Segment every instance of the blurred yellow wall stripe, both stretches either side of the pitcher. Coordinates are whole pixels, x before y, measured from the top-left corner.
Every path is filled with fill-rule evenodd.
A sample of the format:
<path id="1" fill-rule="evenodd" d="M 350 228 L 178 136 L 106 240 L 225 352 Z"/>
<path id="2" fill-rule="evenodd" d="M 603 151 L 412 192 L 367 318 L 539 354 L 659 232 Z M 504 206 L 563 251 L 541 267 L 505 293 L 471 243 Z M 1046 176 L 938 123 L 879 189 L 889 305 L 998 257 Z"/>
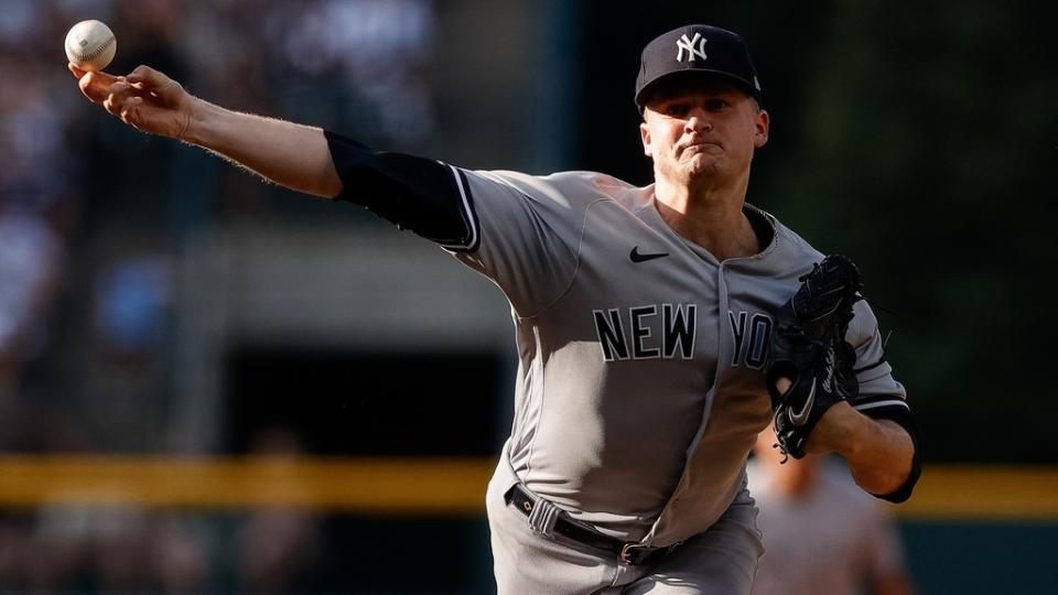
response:
<path id="1" fill-rule="evenodd" d="M 0 508 L 45 505 L 483 515 L 492 458 L 0 455 Z M 907 519 L 1058 521 L 1058 466 L 930 465 Z"/>

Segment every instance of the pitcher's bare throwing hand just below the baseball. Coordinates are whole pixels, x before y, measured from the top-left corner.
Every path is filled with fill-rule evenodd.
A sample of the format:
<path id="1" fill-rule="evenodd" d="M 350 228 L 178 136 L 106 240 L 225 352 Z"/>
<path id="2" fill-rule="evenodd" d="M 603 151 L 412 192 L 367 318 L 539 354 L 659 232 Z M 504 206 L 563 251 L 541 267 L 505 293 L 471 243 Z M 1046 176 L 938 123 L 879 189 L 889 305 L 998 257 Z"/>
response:
<path id="1" fill-rule="evenodd" d="M 114 76 L 82 71 L 73 64 L 69 72 L 89 101 L 137 130 L 174 139 L 187 132 L 195 98 L 164 74 L 137 66 L 127 76 Z"/>

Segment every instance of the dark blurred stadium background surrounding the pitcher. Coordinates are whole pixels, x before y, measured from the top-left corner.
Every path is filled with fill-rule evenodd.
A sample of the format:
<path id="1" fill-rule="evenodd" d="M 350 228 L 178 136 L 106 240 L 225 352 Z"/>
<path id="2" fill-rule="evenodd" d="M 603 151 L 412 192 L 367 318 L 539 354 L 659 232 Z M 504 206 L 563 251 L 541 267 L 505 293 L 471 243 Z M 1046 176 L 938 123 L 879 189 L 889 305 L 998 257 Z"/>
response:
<path id="1" fill-rule="evenodd" d="M 488 593 L 510 416 L 495 288 L 363 209 L 90 106 L 85 18 L 227 107 L 479 169 L 647 183 L 638 50 L 749 42 L 749 199 L 896 314 L 921 593 L 1052 593 L 1048 2 L 0 0 L 0 592 Z M 1043 357 L 1043 359 L 1040 359 Z M 634 436 L 629 437 L 634 440 Z"/>

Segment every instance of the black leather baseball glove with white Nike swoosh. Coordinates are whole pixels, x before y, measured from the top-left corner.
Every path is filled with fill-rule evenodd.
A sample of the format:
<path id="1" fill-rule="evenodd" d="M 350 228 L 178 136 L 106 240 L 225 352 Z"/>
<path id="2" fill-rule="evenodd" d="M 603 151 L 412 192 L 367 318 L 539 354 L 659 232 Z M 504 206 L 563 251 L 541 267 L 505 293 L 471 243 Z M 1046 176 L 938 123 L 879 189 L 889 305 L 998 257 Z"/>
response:
<path id="1" fill-rule="evenodd" d="M 845 332 L 853 304 L 863 299 L 860 271 L 842 256 L 824 258 L 799 281 L 797 293 L 776 314 L 765 366 L 776 446 L 794 458 L 805 456 L 805 443 L 823 413 L 860 391 L 852 369 L 856 353 Z M 785 393 L 775 386 L 779 378 L 792 382 Z"/>

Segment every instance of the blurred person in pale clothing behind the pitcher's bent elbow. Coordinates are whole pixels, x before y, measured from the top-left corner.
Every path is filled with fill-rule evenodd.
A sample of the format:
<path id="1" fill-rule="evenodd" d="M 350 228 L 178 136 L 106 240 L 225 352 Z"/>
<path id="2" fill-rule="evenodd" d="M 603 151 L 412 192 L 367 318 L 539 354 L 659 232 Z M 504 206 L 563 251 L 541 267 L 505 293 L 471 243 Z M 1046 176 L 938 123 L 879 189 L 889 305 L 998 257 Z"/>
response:
<path id="1" fill-rule="evenodd" d="M 780 463 L 775 433 L 757 436 L 749 491 L 764 558 L 754 595 L 910 595 L 893 520 L 836 458 Z"/>

